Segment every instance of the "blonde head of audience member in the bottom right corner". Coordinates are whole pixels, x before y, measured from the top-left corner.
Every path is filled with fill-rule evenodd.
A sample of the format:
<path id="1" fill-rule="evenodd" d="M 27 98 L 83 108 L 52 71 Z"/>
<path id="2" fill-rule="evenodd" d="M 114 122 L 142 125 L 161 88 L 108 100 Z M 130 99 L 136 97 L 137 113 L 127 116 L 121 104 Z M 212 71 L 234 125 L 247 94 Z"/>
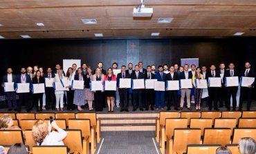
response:
<path id="1" fill-rule="evenodd" d="M 241 154 L 255 154 L 256 142 L 253 138 L 243 137 L 239 140 L 239 150 Z"/>

